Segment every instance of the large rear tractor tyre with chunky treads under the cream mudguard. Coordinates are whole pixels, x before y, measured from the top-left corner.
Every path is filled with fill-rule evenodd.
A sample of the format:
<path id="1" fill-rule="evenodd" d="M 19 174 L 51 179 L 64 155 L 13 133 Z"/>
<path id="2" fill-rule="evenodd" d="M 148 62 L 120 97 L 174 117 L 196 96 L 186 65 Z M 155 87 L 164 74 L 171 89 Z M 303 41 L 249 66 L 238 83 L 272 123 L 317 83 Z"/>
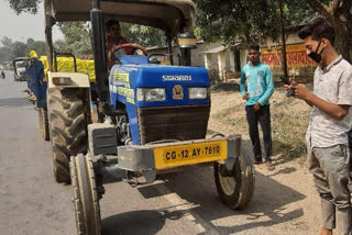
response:
<path id="1" fill-rule="evenodd" d="M 51 88 L 47 100 L 54 177 L 69 183 L 70 156 L 87 149 L 86 98 L 78 88 Z"/>

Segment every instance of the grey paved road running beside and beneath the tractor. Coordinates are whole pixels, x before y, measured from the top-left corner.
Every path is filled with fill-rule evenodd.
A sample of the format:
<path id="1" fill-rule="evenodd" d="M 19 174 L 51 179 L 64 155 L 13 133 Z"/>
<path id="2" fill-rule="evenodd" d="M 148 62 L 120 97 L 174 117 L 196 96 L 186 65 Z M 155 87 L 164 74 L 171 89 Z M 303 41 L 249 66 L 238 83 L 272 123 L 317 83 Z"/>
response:
<path id="1" fill-rule="evenodd" d="M 41 138 L 37 112 L 12 75 L 0 80 L 0 234 L 76 234 L 70 186 L 52 176 L 52 149 Z M 211 168 L 178 172 L 153 184 L 106 186 L 100 201 L 105 235 L 297 234 L 301 193 L 257 174 L 255 197 L 241 212 L 218 199 Z M 279 192 L 279 193 L 272 193 Z M 298 230 L 299 228 L 299 230 Z M 298 233 L 299 234 L 299 233 Z M 304 233 L 309 234 L 309 233 Z"/>

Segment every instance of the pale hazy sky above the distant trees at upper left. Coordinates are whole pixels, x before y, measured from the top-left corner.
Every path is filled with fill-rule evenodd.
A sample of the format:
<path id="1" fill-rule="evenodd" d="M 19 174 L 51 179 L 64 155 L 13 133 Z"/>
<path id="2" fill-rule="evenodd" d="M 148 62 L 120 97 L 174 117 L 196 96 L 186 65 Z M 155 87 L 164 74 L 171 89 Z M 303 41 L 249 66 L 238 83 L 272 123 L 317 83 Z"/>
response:
<path id="1" fill-rule="evenodd" d="M 7 0 L 0 0 L 0 38 L 3 36 L 8 36 L 12 42 L 25 43 L 28 38 L 45 41 L 43 2 L 40 3 L 38 12 L 35 15 L 29 13 L 16 15 Z M 53 40 L 62 38 L 63 34 L 57 26 L 54 26 Z"/>

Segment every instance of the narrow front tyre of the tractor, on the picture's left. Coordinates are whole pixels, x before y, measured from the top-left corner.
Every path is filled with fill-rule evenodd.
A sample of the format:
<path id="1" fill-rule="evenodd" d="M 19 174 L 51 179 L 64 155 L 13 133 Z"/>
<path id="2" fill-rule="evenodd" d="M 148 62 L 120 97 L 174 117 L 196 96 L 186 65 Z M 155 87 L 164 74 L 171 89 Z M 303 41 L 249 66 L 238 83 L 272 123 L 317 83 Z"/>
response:
<path id="1" fill-rule="evenodd" d="M 92 160 L 79 154 L 70 159 L 77 234 L 100 235 L 100 208 Z"/>

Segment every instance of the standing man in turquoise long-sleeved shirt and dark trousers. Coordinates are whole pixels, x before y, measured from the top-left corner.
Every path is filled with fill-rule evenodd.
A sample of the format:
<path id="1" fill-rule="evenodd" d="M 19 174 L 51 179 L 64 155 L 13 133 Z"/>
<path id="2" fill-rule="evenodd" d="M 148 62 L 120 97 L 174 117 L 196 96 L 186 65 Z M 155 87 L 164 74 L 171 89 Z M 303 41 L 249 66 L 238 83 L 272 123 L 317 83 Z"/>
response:
<path id="1" fill-rule="evenodd" d="M 260 46 L 249 47 L 249 63 L 241 71 L 240 90 L 245 102 L 246 120 L 250 126 L 250 137 L 253 145 L 254 164 L 261 164 L 262 148 L 257 124 L 264 136 L 265 163 L 268 170 L 272 165 L 272 127 L 268 99 L 274 93 L 274 82 L 271 68 L 261 61 Z M 245 90 L 246 89 L 246 90 Z"/>

